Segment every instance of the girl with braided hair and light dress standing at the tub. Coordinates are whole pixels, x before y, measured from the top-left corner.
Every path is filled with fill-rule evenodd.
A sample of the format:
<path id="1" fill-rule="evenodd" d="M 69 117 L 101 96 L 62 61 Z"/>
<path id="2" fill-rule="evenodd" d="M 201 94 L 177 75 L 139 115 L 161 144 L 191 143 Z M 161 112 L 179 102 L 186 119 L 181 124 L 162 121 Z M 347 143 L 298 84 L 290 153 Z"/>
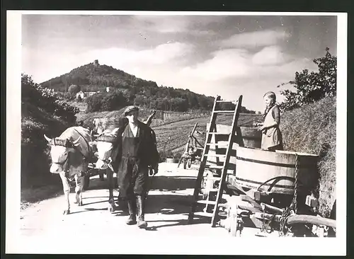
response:
<path id="1" fill-rule="evenodd" d="M 280 110 L 275 104 L 276 96 L 273 92 L 267 92 L 263 96 L 265 103 L 264 122 L 259 123 L 258 130 L 262 131 L 261 149 L 268 151 L 283 150 L 282 133 L 280 132 Z"/>

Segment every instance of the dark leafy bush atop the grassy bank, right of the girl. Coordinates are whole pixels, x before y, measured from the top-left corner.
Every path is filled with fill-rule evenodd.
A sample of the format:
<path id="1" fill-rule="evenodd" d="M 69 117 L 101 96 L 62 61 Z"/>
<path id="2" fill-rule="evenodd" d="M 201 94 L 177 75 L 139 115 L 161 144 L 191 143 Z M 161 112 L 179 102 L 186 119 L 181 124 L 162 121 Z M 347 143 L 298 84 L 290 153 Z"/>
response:
<path id="1" fill-rule="evenodd" d="M 313 62 L 317 65 L 318 72 L 309 73 L 308 69 L 304 69 L 295 73 L 294 80 L 281 84 L 292 84 L 296 88 L 295 92 L 288 89 L 280 92 L 285 96 L 285 100 L 280 103 L 282 110 L 292 110 L 326 96 L 336 96 L 337 57 L 326 47 L 326 55 L 314 59 Z"/>

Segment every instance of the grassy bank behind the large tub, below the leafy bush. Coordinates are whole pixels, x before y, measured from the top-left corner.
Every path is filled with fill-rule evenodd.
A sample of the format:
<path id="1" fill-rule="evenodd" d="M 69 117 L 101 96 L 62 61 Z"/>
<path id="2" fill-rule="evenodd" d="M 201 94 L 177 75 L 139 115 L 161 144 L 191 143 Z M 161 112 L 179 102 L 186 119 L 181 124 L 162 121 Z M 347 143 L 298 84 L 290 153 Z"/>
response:
<path id="1" fill-rule="evenodd" d="M 324 98 L 282 115 L 286 150 L 319 155 L 319 211 L 329 217 L 336 200 L 336 98 Z"/>

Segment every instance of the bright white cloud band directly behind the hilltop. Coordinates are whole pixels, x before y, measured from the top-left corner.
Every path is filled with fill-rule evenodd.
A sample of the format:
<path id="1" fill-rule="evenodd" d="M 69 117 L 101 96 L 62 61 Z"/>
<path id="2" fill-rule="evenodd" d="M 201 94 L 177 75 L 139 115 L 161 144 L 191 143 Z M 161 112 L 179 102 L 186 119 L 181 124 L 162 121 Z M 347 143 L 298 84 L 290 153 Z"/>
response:
<path id="1" fill-rule="evenodd" d="M 38 83 L 65 74 L 83 64 L 89 64 L 95 59 L 98 59 L 100 64 L 135 73 L 149 67 L 161 68 L 168 67 L 169 64 L 180 64 L 192 51 L 193 45 L 181 42 L 171 42 L 146 50 L 113 47 L 76 54 L 23 47 L 22 69 L 27 74 L 33 74 L 33 79 Z M 65 58 L 62 58 L 63 55 Z"/>

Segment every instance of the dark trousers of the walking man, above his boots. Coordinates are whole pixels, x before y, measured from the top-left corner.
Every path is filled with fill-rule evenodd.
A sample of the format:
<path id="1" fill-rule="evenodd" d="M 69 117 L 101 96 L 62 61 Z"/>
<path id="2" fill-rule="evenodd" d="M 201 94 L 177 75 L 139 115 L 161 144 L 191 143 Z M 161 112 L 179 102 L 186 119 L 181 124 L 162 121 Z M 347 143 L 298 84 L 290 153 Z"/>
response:
<path id="1" fill-rule="evenodd" d="M 122 157 L 118 171 L 120 197 L 131 200 L 135 195 L 144 196 L 147 191 L 149 168 L 139 163 L 138 159 Z"/>

